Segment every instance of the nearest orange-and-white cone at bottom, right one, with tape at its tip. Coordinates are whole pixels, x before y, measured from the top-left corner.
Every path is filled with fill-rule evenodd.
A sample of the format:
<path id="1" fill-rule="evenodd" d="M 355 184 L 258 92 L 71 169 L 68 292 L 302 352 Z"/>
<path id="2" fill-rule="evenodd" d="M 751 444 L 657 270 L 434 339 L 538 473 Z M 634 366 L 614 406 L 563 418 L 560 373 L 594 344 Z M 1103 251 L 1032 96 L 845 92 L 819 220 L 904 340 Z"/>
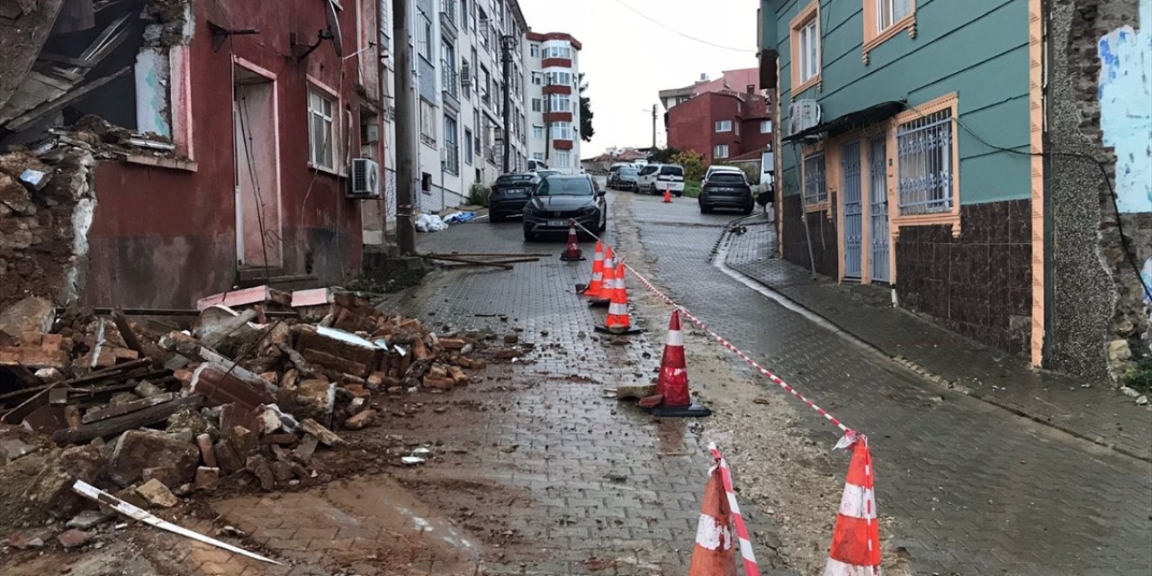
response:
<path id="1" fill-rule="evenodd" d="M 824 576 L 878 576 L 880 574 L 880 526 L 877 524 L 872 453 L 864 434 L 849 432 L 836 445 L 852 449 L 840 500 L 836 529 L 832 535 Z"/>

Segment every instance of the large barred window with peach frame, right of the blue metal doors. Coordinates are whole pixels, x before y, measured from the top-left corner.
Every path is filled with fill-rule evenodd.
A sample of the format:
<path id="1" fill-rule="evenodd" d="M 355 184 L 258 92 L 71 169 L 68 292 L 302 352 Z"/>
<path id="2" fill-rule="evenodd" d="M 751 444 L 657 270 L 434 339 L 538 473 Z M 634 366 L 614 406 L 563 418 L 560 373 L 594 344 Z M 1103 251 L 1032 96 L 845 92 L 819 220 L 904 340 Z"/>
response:
<path id="1" fill-rule="evenodd" d="M 896 129 L 901 215 L 952 210 L 954 145 L 950 109 Z"/>

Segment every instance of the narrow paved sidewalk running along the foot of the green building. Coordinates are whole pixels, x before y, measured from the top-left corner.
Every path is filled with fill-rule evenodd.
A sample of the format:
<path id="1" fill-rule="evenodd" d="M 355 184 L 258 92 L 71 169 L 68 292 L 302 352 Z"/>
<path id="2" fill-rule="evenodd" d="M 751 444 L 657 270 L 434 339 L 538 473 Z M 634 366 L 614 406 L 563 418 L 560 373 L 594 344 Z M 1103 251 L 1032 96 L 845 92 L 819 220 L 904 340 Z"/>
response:
<path id="1" fill-rule="evenodd" d="M 1152 406 L 1137 406 L 1109 382 L 1087 382 L 1046 371 L 911 313 L 893 309 L 887 295 L 867 288 L 812 280 L 776 257 L 775 227 L 745 222 L 730 234 L 726 263 L 824 317 L 846 332 L 908 364 L 930 379 L 1036 422 L 1119 452 L 1152 461 Z M 882 296 L 882 297 L 870 297 Z"/>

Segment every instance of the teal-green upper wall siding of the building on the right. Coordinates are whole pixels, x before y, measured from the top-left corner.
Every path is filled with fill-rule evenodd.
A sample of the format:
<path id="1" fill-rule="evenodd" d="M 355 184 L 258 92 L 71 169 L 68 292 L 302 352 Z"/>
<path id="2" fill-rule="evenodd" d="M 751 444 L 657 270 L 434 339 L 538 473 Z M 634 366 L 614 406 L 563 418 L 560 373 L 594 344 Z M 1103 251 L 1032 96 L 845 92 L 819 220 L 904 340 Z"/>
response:
<path id="1" fill-rule="evenodd" d="M 819 100 L 827 120 L 885 100 L 917 106 L 956 92 L 961 204 L 1030 197 L 1028 157 L 980 142 L 1028 151 L 1028 0 L 916 0 L 916 38 L 896 35 L 870 52 L 866 66 L 863 3 L 820 0 L 821 90 L 796 96 Z M 808 5 L 767 0 L 764 6 L 765 20 L 775 20 L 764 25 L 776 31 L 786 116 L 793 99 L 789 23 Z M 796 194 L 795 159 L 790 150 L 782 152 L 781 188 Z"/>

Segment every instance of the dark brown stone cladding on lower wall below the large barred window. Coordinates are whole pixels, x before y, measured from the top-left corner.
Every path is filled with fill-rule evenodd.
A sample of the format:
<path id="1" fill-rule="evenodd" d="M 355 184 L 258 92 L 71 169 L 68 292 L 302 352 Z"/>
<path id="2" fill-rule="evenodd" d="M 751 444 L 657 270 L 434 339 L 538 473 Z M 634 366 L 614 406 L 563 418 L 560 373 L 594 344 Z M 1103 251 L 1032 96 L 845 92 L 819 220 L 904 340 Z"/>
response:
<path id="1" fill-rule="evenodd" d="M 900 304 L 954 332 L 1028 356 L 1032 335 L 1031 200 L 961 206 L 950 226 L 905 226 L 896 238 Z"/>

